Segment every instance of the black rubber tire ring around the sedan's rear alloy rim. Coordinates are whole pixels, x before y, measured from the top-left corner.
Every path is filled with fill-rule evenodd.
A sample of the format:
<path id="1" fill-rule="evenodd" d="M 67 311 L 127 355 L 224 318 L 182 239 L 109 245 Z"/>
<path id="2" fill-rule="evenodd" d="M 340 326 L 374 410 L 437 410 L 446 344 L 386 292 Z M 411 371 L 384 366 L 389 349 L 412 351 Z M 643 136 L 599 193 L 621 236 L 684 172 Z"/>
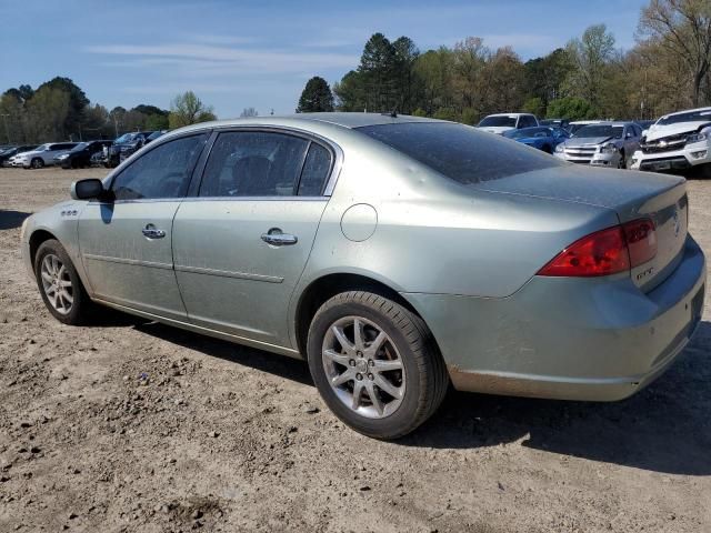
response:
<path id="1" fill-rule="evenodd" d="M 378 324 L 402 360 L 407 386 L 400 404 L 383 418 L 367 418 L 346 405 L 324 370 L 322 350 L 327 332 L 348 316 Z M 424 321 L 371 292 L 343 292 L 321 305 L 309 328 L 307 352 L 311 376 L 329 409 L 353 430 L 374 439 L 398 439 L 415 430 L 437 411 L 449 386 L 444 362 Z"/>

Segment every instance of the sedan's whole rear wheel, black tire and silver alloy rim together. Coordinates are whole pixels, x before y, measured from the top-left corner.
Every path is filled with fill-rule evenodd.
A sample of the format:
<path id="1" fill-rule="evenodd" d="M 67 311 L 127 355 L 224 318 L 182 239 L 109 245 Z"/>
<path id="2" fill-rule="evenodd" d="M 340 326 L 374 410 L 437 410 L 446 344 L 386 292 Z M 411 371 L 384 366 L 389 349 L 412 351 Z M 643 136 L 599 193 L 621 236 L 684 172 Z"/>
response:
<path id="1" fill-rule="evenodd" d="M 378 294 L 337 294 L 309 329 L 309 369 L 319 393 L 346 424 L 398 439 L 442 402 L 449 376 L 422 319 Z"/>

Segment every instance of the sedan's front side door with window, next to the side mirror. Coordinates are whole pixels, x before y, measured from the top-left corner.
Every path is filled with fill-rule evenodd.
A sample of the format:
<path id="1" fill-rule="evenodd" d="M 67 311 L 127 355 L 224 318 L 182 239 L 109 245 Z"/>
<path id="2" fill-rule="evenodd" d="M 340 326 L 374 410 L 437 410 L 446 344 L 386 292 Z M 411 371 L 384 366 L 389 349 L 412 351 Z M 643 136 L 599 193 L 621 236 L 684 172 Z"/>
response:
<path id="1" fill-rule="evenodd" d="M 207 133 L 172 139 L 111 181 L 113 201 L 90 202 L 79 219 L 80 253 L 94 296 L 186 319 L 172 259 L 172 222 Z"/>

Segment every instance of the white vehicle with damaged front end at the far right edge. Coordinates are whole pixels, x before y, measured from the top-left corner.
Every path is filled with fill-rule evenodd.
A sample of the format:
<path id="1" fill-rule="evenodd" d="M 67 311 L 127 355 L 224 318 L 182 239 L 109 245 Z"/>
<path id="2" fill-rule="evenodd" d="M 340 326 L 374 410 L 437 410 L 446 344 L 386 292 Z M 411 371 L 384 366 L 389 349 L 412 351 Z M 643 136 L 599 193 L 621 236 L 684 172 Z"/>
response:
<path id="1" fill-rule="evenodd" d="M 711 108 L 665 114 L 644 132 L 632 168 L 664 172 L 707 165 L 711 173 Z"/>

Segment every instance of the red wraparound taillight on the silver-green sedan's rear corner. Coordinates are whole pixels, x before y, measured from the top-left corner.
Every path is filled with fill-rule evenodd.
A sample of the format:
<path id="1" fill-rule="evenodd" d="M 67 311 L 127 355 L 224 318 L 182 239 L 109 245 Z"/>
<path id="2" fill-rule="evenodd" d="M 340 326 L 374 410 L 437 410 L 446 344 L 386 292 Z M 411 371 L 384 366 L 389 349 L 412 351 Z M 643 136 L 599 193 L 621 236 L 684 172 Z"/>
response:
<path id="1" fill-rule="evenodd" d="M 640 219 L 583 237 L 554 257 L 538 275 L 591 278 L 617 274 L 645 263 L 655 254 L 654 223 Z"/>

